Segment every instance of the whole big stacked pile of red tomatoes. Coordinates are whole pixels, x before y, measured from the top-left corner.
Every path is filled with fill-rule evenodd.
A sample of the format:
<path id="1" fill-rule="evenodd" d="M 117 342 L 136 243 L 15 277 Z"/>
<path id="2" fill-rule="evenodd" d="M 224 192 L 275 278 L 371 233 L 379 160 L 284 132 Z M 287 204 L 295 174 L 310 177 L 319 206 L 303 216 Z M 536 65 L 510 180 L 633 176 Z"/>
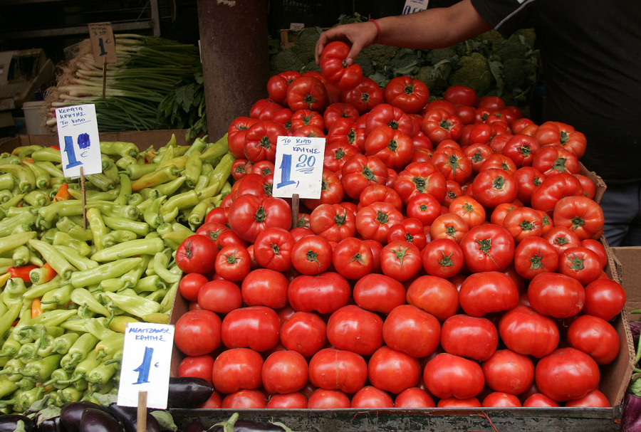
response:
<path id="1" fill-rule="evenodd" d="M 212 382 L 204 407 L 611 406 L 625 291 L 585 136 L 325 51 L 232 122 L 231 193 L 177 251 L 179 374 Z M 271 196 L 279 135 L 325 137 L 296 218 Z"/>

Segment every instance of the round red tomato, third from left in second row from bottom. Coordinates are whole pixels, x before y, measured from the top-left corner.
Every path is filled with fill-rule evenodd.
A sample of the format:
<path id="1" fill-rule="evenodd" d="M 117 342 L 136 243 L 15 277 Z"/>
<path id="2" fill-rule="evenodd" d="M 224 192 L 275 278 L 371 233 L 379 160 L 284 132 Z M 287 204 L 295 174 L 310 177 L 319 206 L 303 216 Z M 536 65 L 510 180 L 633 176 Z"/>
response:
<path id="1" fill-rule="evenodd" d="M 307 361 L 296 351 L 273 352 L 263 363 L 261 377 L 267 393 L 288 394 L 299 391 L 307 384 Z"/>

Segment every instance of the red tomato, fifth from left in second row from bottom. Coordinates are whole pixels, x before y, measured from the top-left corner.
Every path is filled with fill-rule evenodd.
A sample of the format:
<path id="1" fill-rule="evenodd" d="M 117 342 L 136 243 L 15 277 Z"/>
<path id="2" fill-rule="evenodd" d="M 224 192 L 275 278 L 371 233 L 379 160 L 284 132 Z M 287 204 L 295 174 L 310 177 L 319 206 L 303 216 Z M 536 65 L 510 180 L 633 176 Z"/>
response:
<path id="1" fill-rule="evenodd" d="M 419 359 L 383 345 L 370 357 L 368 379 L 382 391 L 399 394 L 418 384 L 421 377 Z"/>

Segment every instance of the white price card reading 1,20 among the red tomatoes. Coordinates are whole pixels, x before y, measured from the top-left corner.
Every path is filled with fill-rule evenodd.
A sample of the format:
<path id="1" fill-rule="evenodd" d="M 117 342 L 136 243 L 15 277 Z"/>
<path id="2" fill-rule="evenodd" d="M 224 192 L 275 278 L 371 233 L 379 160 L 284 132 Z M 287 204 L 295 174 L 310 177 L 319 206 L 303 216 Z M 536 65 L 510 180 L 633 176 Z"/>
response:
<path id="1" fill-rule="evenodd" d="M 320 198 L 324 158 L 323 137 L 278 137 L 272 195 Z"/>

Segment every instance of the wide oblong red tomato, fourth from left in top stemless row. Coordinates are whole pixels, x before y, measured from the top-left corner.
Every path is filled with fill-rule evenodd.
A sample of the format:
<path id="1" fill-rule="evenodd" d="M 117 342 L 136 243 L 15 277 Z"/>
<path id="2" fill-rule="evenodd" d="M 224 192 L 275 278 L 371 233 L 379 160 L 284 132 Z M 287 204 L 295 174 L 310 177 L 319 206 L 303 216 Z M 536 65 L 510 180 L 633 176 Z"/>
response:
<path id="1" fill-rule="evenodd" d="M 300 275 L 289 283 L 287 296 L 293 310 L 331 313 L 347 305 L 351 289 L 347 279 L 335 272 Z"/>

